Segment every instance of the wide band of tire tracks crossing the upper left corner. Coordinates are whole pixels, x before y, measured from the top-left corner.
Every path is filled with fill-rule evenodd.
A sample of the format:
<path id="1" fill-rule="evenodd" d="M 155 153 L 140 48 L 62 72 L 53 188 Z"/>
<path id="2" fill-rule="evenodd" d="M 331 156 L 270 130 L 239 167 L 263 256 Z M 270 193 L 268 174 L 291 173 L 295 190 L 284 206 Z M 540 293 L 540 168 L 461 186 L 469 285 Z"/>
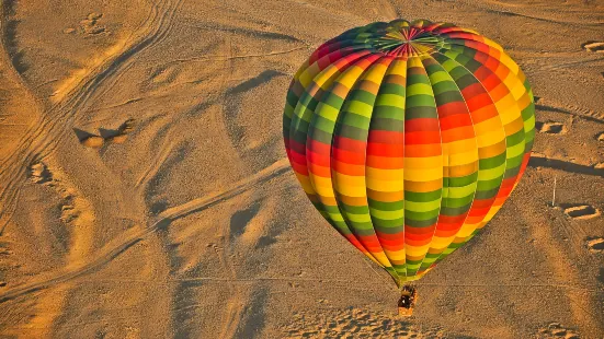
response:
<path id="1" fill-rule="evenodd" d="M 11 206 L 15 203 L 19 187 L 25 178 L 26 165 L 34 160 L 48 156 L 58 143 L 69 135 L 80 112 L 91 98 L 98 97 L 103 87 L 121 77 L 144 50 L 156 46 L 168 36 L 173 26 L 172 19 L 183 0 L 163 0 L 153 3 L 148 17 L 129 38 L 117 46 L 112 54 L 83 75 L 71 80 L 60 98 L 45 110 L 44 119 L 34 124 L 19 142 L 16 150 L 0 170 L 0 210 L 2 221 L 9 220 Z M 132 42 L 132 43 L 129 43 Z M 100 91 L 101 90 L 101 91 Z"/>

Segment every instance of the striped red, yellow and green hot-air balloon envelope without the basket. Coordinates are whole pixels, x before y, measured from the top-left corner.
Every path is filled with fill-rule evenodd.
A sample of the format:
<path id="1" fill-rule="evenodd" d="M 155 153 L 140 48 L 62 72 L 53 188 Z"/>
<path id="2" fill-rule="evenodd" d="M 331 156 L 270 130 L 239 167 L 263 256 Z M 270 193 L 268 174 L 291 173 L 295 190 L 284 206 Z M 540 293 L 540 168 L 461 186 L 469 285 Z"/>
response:
<path id="1" fill-rule="evenodd" d="M 285 148 L 310 201 L 399 287 L 493 218 L 535 133 L 531 87 L 501 46 L 425 20 L 324 43 L 286 101 Z"/>

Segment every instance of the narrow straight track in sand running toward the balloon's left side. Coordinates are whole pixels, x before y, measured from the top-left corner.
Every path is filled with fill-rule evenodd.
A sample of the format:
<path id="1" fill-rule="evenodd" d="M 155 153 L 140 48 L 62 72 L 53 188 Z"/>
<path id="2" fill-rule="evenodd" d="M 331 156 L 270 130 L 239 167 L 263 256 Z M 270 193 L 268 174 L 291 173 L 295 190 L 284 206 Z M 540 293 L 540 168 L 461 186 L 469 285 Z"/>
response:
<path id="1" fill-rule="evenodd" d="M 126 231 L 124 237 L 119 242 L 107 244 L 103 249 L 90 256 L 90 260 L 81 264 L 72 264 L 70 269 L 56 272 L 45 279 L 25 283 L 20 287 L 12 288 L 4 293 L 0 294 L 0 304 L 7 301 L 14 300 L 16 297 L 42 291 L 62 282 L 95 272 L 101 269 L 114 258 L 125 253 L 128 248 L 136 245 L 140 241 L 153 235 L 158 230 L 167 227 L 172 221 L 182 219 L 195 212 L 206 210 L 220 202 L 227 201 L 232 197 L 236 197 L 249 189 L 257 187 L 263 183 L 266 183 L 275 177 L 278 177 L 289 171 L 289 162 L 287 159 L 281 159 L 271 166 L 258 172 L 253 176 L 243 178 L 233 185 L 230 189 L 216 192 L 209 197 L 202 197 L 183 204 L 167 209 L 159 219 L 150 226 L 145 229 L 135 227 Z M 118 237 L 119 238 L 119 237 Z"/>

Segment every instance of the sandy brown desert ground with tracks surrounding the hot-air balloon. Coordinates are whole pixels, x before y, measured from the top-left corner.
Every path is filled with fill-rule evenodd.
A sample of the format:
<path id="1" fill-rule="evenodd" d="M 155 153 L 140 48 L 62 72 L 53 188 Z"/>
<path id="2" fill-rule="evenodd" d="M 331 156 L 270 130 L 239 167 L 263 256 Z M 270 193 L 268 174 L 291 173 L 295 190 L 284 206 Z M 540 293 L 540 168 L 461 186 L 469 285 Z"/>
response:
<path id="1" fill-rule="evenodd" d="M 499 42 L 539 131 L 411 318 L 281 138 L 314 48 L 395 17 Z M 604 337 L 604 1 L 4 0 L 1 28 L 1 338 Z"/>

